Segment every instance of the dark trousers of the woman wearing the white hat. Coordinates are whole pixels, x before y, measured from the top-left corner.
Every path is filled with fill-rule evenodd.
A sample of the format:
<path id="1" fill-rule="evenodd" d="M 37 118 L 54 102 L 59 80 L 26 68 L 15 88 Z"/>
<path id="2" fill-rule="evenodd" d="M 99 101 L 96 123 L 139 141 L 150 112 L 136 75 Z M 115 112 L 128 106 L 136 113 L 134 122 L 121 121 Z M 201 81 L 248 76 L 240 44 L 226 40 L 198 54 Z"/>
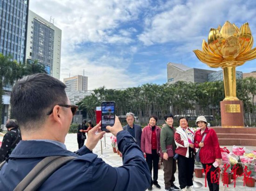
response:
<path id="1" fill-rule="evenodd" d="M 216 171 L 217 168 L 215 168 L 213 165 L 213 163 L 209 163 L 209 164 L 202 164 L 203 166 L 203 169 L 204 169 L 204 172 L 206 172 L 206 168 L 209 166 L 211 166 L 209 170 L 209 172 L 207 172 L 207 175 L 206 175 L 206 178 L 207 178 L 207 183 L 208 183 L 208 186 L 209 186 L 209 191 L 219 191 L 220 189 L 220 182 L 219 182 L 219 179 L 218 179 L 218 171 Z M 217 179 L 218 181 L 214 181 L 213 178 L 211 178 L 211 173 L 213 174 L 212 177 L 214 177 L 214 179 Z"/>

